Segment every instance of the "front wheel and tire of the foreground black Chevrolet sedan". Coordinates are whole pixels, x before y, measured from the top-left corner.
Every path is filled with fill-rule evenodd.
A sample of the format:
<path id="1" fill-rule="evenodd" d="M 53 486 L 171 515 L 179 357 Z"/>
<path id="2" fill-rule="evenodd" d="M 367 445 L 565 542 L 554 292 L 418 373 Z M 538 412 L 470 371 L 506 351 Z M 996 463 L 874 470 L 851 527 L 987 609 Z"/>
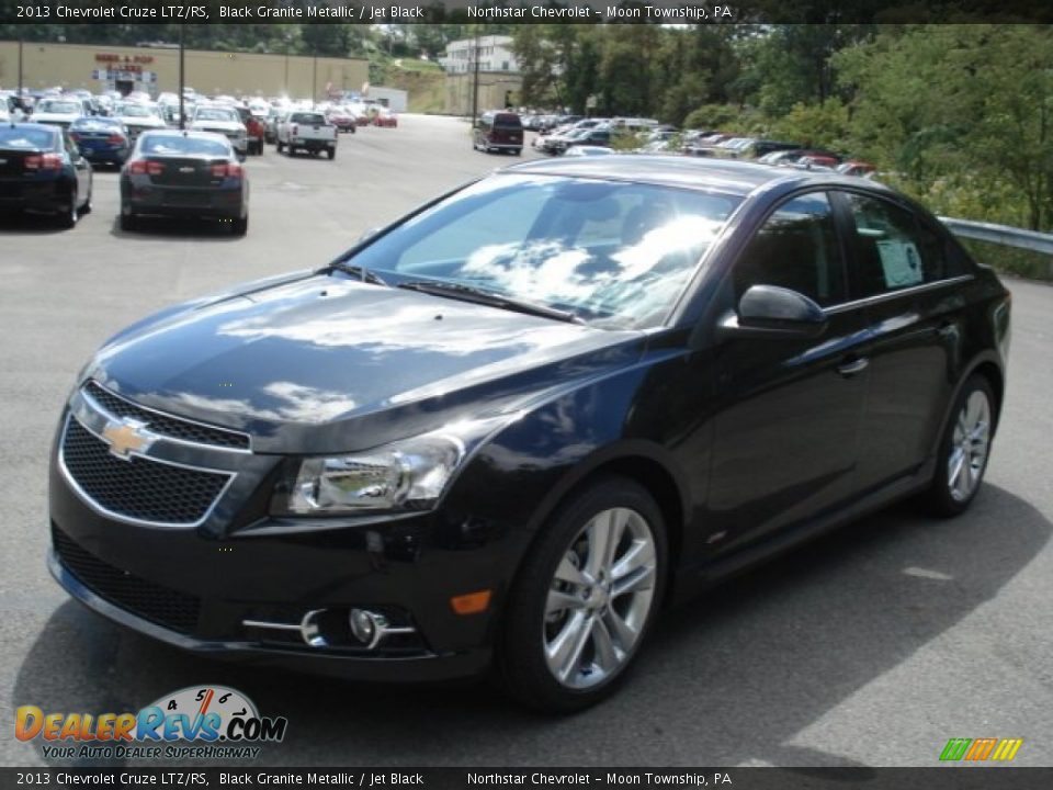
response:
<path id="1" fill-rule="evenodd" d="M 603 562 L 600 538 L 611 530 L 620 538 Z M 601 478 L 565 501 L 509 594 L 497 650 L 506 690 L 564 713 L 613 693 L 656 619 L 667 557 L 661 511 L 634 481 Z M 620 580 L 629 589 L 618 592 Z"/>

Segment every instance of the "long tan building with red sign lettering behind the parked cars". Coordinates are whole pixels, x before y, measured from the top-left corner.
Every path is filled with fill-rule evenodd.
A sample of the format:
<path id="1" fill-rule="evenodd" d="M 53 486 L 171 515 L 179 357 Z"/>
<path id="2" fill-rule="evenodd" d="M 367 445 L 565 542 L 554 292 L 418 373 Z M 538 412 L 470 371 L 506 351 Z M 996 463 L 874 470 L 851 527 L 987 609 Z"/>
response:
<path id="1" fill-rule="evenodd" d="M 179 49 L 82 44 L 0 42 L 0 88 L 84 88 L 92 93 L 179 89 Z M 363 58 L 332 58 L 188 49 L 184 83 L 215 95 L 321 98 L 328 91 L 360 91 L 369 81 Z"/>

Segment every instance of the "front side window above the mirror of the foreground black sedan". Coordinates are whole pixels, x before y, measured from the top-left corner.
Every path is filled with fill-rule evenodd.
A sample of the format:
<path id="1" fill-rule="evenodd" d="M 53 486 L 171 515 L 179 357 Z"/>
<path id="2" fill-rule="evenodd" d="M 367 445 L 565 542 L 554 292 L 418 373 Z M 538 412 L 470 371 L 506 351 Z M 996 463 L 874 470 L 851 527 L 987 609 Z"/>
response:
<path id="1" fill-rule="evenodd" d="M 825 192 L 783 203 L 735 263 L 735 303 L 751 285 L 778 285 L 827 307 L 843 302 L 845 267 Z"/>

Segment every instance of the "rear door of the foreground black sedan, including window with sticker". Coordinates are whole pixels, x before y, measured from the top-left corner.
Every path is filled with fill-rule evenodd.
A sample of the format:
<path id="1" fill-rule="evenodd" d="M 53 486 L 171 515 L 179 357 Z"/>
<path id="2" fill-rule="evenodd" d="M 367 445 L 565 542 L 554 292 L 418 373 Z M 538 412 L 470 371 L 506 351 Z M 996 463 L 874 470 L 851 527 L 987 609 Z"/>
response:
<path id="1" fill-rule="evenodd" d="M 907 205 L 862 191 L 835 200 L 850 228 L 851 295 L 872 326 L 858 474 L 873 489 L 917 471 L 935 445 L 963 336 L 964 270 L 946 235 Z"/>

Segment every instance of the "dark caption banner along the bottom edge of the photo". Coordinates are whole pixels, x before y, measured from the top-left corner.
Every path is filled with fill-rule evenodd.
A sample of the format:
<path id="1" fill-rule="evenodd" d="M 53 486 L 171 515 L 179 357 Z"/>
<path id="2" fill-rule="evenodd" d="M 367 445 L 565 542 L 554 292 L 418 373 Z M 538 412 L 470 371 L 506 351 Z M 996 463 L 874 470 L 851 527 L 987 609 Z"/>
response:
<path id="1" fill-rule="evenodd" d="M 1053 768 L 0 768 L 0 788 L 30 787 L 1046 790 Z"/>

